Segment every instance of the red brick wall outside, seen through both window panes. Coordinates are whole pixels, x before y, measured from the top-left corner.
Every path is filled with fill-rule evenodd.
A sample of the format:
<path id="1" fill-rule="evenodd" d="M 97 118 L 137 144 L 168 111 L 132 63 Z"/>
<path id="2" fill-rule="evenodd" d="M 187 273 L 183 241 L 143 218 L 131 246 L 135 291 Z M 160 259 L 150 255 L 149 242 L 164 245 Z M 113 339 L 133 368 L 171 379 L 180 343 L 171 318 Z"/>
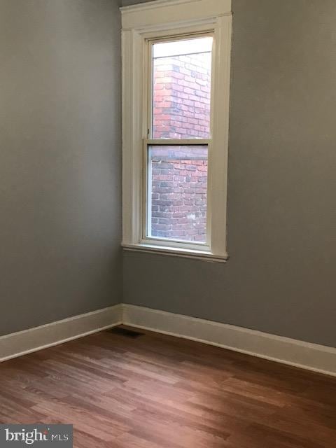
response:
<path id="1" fill-rule="evenodd" d="M 207 53 L 155 59 L 153 138 L 209 137 L 210 64 Z M 151 235 L 206 241 L 206 224 L 207 148 L 153 148 Z"/>

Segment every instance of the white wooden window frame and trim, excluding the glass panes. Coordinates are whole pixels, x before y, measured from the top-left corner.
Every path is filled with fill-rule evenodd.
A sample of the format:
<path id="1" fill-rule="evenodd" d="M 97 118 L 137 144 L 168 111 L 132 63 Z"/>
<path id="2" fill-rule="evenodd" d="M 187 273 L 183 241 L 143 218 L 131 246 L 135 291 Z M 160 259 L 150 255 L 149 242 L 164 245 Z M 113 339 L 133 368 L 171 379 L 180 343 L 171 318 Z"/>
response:
<path id="1" fill-rule="evenodd" d="M 123 247 L 225 261 L 230 96 L 231 0 L 156 0 L 120 8 L 123 23 Z M 207 243 L 146 237 L 148 40 L 213 34 L 211 136 L 208 146 Z M 193 144 L 194 139 L 181 144 Z"/>

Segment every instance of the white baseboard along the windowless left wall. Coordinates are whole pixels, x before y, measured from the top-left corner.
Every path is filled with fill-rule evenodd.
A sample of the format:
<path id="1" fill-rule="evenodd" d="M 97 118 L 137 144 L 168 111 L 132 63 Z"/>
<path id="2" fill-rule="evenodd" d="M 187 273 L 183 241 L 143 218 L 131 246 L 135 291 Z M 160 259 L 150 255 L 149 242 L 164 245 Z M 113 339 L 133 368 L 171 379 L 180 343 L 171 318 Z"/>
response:
<path id="1" fill-rule="evenodd" d="M 120 325 L 121 304 L 0 337 L 0 362 Z"/>

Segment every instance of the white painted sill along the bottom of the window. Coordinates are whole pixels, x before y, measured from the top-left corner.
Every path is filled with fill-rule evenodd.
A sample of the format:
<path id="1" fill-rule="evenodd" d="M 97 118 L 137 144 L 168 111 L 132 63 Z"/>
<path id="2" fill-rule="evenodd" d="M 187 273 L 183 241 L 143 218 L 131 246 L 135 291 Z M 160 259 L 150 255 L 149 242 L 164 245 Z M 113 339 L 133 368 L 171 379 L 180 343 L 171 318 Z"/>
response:
<path id="1" fill-rule="evenodd" d="M 166 246 L 154 246 L 152 244 L 122 244 L 125 251 L 157 253 L 159 255 L 169 255 L 174 257 L 193 258 L 195 260 L 203 260 L 209 262 L 228 261 L 228 254 L 214 255 L 214 253 L 207 251 L 196 251 L 194 249 L 185 248 L 171 248 Z"/>

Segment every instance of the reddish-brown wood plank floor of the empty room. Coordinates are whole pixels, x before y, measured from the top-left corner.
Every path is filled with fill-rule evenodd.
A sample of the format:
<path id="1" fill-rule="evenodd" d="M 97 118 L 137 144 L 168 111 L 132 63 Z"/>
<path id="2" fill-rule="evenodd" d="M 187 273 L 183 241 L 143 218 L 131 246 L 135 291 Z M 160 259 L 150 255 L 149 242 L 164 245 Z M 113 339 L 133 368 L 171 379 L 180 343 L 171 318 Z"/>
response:
<path id="1" fill-rule="evenodd" d="M 153 332 L 6 361 L 0 400 L 1 423 L 73 423 L 78 448 L 336 447 L 336 378 Z"/>

